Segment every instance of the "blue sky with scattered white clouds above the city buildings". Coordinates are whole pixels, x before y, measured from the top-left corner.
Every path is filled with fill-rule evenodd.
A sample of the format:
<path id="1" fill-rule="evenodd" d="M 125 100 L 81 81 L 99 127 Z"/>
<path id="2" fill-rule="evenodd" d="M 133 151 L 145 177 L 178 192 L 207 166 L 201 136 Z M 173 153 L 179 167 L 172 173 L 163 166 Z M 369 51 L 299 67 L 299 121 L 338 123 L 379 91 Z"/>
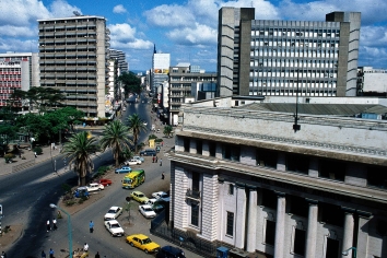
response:
<path id="1" fill-rule="evenodd" d="M 256 8 L 258 20 L 324 21 L 332 11 L 362 12 L 359 66 L 387 69 L 386 0 L 0 0 L 0 52 L 38 51 L 38 19 L 73 11 L 107 19 L 112 48 L 126 52 L 129 70 L 149 70 L 153 44 L 171 66 L 216 71 L 218 11 Z"/>

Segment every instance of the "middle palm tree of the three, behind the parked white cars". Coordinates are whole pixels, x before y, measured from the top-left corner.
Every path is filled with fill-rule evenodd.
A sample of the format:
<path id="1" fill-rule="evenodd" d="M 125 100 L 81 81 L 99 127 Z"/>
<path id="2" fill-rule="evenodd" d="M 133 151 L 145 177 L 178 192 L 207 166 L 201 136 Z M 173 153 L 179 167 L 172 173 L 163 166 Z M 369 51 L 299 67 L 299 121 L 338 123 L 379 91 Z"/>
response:
<path id="1" fill-rule="evenodd" d="M 102 150 L 113 149 L 113 156 L 116 161 L 116 167 L 119 165 L 119 157 L 126 150 L 130 150 L 132 140 L 128 136 L 129 128 L 120 120 L 114 120 L 105 126 L 103 137 L 99 141 Z"/>

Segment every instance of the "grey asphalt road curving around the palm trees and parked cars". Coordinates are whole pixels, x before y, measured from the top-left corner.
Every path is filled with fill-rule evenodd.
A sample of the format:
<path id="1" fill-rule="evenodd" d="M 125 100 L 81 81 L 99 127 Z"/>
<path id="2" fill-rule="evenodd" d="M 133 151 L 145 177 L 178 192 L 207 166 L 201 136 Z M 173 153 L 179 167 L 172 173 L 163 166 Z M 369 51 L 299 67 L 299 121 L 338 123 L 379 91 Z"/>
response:
<path id="1" fill-rule="evenodd" d="M 150 128 L 152 125 L 150 108 L 151 106 L 146 98 L 142 96 L 138 103 L 128 104 L 121 119 L 126 120 L 127 116 L 137 113 L 142 119 L 148 121 Z M 144 141 L 146 137 L 143 133 L 139 142 Z M 160 134 L 159 137 L 162 136 Z M 172 142 L 172 139 L 169 141 Z M 162 153 L 160 157 L 162 157 Z M 60 157 L 56 160 L 56 167 L 59 171 L 63 167 L 63 161 Z M 94 160 L 96 169 L 102 165 L 113 163 L 112 152 L 103 153 L 99 155 L 99 159 Z M 26 225 L 23 236 L 8 251 L 8 257 L 39 257 L 42 249 L 47 254 L 49 248 L 56 251 L 56 257 L 68 256 L 66 215 L 62 213 L 64 220 L 58 221 L 59 228 L 56 232 L 47 233 L 45 225 L 46 221 L 48 219 L 51 220 L 56 214 L 56 211 L 49 208 L 49 203 L 58 203 L 61 196 L 61 185 L 63 183 L 74 185 L 77 176 L 73 172 L 58 176 L 52 173 L 52 168 L 54 162 L 46 162 L 27 171 L 1 178 L 0 203 L 3 204 L 5 213 L 3 225 L 21 223 Z M 145 163 L 141 165 L 141 168 L 145 169 L 146 180 L 143 185 L 136 188 L 136 190 L 151 196 L 154 191 L 167 190 L 169 188 L 171 169 L 169 162 L 166 159 L 163 159 L 163 166 L 160 166 L 152 163 L 151 157 L 145 157 Z M 166 175 L 165 180 L 161 180 L 162 172 Z M 129 195 L 128 190 L 120 187 L 119 181 L 122 176 L 122 174 L 112 175 L 115 184 L 101 192 L 104 197 L 71 216 L 74 249 L 81 248 L 86 242 L 90 246 L 90 257 L 94 257 L 96 251 L 99 251 L 102 257 L 106 256 L 107 258 L 150 257 L 150 255 L 145 255 L 143 251 L 126 244 L 125 237 L 113 238 L 104 228 L 103 215 L 112 206 L 124 206 L 125 198 Z M 89 233 L 89 222 L 91 220 L 95 223 L 95 232 L 93 234 Z M 130 223 L 128 223 L 127 214 L 121 215 L 118 221 L 127 234 L 143 233 L 150 236 L 150 220 L 144 219 L 138 212 L 137 202 L 132 202 Z M 155 236 L 151 236 L 151 238 L 156 241 L 161 246 L 169 244 Z M 187 257 L 200 256 L 188 253 Z"/>

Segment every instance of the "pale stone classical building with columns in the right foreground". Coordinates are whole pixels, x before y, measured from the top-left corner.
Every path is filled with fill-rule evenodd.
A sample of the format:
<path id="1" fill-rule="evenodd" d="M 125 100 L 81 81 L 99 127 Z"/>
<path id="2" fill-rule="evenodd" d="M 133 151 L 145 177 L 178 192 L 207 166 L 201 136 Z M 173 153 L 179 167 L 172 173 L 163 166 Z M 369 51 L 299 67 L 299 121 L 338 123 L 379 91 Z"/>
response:
<path id="1" fill-rule="evenodd" d="M 387 257 L 387 122 L 355 115 L 186 104 L 169 153 L 174 230 L 241 257 Z"/>

